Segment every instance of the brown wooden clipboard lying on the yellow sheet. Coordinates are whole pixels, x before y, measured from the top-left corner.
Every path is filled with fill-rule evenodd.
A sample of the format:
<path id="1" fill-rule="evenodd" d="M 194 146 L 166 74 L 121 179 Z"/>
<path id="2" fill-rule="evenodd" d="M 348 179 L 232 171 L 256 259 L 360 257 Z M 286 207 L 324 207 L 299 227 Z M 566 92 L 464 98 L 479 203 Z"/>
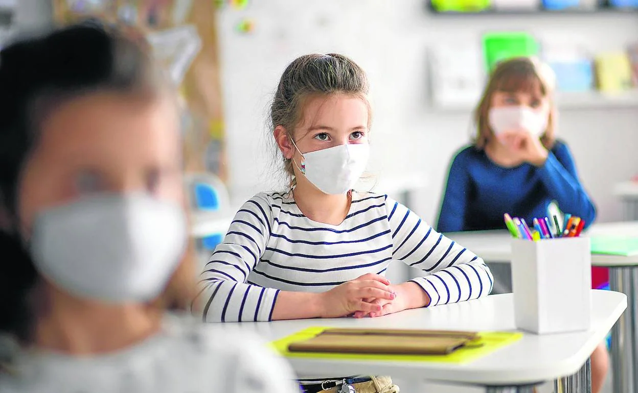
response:
<path id="1" fill-rule="evenodd" d="M 290 352 L 447 355 L 479 338 L 475 332 L 397 329 L 327 329 L 288 346 Z"/>

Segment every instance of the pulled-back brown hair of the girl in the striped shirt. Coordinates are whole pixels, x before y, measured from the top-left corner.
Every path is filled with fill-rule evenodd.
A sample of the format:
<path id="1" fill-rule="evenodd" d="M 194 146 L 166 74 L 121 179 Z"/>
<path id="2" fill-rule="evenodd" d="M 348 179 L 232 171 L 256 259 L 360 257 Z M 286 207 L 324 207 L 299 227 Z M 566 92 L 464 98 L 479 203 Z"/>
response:
<path id="1" fill-rule="evenodd" d="M 297 57 L 288 64 L 271 104 L 271 129 L 269 136 L 281 125 L 293 139 L 293 131 L 302 120 L 304 103 L 313 96 L 346 94 L 359 97 L 368 107 L 368 127 L 371 123 L 371 108 L 367 99 L 369 86 L 365 71 L 351 59 L 339 54 L 310 54 Z M 270 138 L 274 142 L 274 138 Z M 274 145 L 275 162 L 281 162 L 281 152 Z M 293 185 L 292 160 L 285 159 L 286 180 Z"/>

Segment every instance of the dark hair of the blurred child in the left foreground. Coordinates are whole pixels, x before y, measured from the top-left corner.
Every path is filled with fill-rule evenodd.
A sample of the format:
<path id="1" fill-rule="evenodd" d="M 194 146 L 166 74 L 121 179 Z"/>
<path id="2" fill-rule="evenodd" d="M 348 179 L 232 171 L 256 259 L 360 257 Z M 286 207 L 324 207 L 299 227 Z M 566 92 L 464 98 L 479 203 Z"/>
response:
<path id="1" fill-rule="evenodd" d="M 42 67 L 42 64 L 47 64 Z M 117 29 L 83 23 L 24 39 L 0 52 L 0 210 L 10 228 L 0 231 L 0 336 L 29 343 L 41 278 L 17 231 L 17 190 L 22 168 L 49 111 L 94 92 L 156 99 L 170 91 L 143 46 Z M 165 292 L 149 306 L 188 308 L 195 275 L 188 252 Z M 191 282 L 192 279 L 192 282 Z"/>

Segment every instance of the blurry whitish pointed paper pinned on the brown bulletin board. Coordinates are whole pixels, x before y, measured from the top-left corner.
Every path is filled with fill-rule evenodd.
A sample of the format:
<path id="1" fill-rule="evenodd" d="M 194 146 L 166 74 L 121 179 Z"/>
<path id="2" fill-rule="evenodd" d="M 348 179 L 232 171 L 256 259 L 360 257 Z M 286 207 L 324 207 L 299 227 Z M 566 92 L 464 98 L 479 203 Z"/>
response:
<path id="1" fill-rule="evenodd" d="M 171 80 L 180 85 L 202 48 L 202 39 L 193 25 L 174 27 L 147 34 L 154 56 L 165 64 Z"/>

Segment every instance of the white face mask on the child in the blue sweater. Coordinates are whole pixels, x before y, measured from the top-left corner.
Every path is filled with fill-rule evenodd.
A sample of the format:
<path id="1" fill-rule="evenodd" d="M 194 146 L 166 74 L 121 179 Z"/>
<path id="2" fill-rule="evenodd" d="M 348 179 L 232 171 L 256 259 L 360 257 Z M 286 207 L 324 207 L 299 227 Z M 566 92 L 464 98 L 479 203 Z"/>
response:
<path id="1" fill-rule="evenodd" d="M 547 130 L 547 112 L 527 106 L 501 106 L 489 110 L 489 127 L 495 136 L 508 131 L 525 130 L 540 138 Z"/>

